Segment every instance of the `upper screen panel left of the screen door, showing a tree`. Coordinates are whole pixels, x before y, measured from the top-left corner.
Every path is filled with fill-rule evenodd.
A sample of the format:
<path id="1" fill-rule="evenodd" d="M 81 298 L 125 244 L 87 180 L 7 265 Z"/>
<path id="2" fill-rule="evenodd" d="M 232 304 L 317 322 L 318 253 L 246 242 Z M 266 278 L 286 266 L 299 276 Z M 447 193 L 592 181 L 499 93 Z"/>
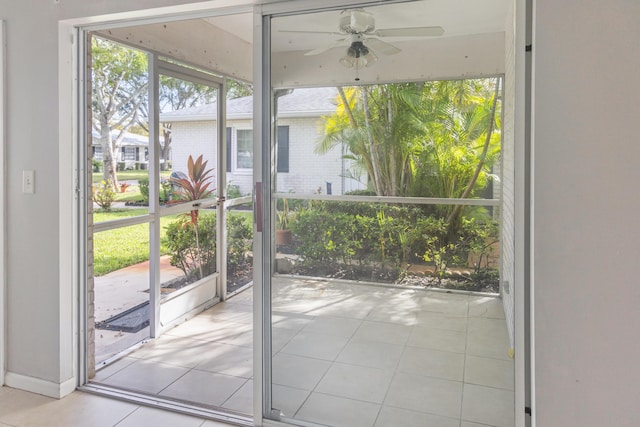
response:
<path id="1" fill-rule="evenodd" d="M 93 211 L 100 214 L 128 209 L 128 216 L 146 215 L 149 206 L 149 136 L 146 118 L 149 83 L 145 53 L 115 42 L 93 37 L 91 43 L 93 125 L 91 194 Z M 114 60 L 114 58 L 118 60 Z M 119 88 L 114 75 L 128 85 Z M 133 107 L 133 108 L 132 108 Z M 109 221 L 99 215 L 94 222 Z"/>

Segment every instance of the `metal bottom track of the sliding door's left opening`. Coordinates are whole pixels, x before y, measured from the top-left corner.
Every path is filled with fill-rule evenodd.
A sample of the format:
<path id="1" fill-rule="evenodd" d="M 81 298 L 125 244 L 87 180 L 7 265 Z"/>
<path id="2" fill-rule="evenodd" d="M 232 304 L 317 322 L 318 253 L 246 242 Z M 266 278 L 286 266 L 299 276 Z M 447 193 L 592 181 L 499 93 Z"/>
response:
<path id="1" fill-rule="evenodd" d="M 207 420 L 219 421 L 236 426 L 253 426 L 253 418 L 246 415 L 213 407 L 197 406 L 184 401 L 165 399 L 156 395 L 138 393 L 131 390 L 110 387 L 101 384 L 86 384 L 78 387 L 78 391 L 95 394 L 110 399 L 122 400 L 141 406 L 162 409 L 169 412 L 177 412 Z"/>

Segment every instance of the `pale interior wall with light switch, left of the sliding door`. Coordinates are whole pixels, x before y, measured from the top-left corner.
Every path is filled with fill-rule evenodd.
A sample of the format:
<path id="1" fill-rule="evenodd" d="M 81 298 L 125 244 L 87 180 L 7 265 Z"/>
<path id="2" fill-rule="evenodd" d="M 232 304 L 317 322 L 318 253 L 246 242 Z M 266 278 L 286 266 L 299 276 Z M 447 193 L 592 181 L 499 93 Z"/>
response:
<path id="1" fill-rule="evenodd" d="M 59 192 L 58 21 L 188 0 L 0 0 L 7 41 L 7 384 L 58 396 L 75 386 L 73 288 L 61 281 L 60 209 L 72 212 L 72 169 Z M 222 3 L 222 2 L 220 2 Z M 70 43 L 70 38 L 65 38 Z M 71 46 L 71 44 L 69 44 Z M 70 87 L 69 82 L 69 87 Z M 71 164 L 71 162 L 69 162 Z M 36 171 L 36 192 L 22 194 L 22 170 Z M 64 206 L 63 206 L 64 205 Z M 68 236 L 66 237 L 68 239 Z"/>

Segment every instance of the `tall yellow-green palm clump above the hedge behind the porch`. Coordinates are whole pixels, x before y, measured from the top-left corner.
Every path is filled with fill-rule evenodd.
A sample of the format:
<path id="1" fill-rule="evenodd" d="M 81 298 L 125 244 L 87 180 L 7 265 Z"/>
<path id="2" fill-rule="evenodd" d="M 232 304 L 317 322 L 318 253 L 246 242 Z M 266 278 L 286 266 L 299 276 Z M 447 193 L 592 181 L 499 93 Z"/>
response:
<path id="1" fill-rule="evenodd" d="M 338 88 L 316 152 L 344 144 L 377 195 L 466 198 L 499 154 L 500 79 Z M 462 207 L 438 208 L 451 231 Z"/>

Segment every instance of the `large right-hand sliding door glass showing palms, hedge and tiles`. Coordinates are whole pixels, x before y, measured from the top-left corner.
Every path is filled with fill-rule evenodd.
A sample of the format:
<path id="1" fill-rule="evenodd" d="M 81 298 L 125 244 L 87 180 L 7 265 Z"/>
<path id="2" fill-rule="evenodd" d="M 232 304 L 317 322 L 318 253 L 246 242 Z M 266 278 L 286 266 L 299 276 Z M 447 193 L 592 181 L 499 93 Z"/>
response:
<path id="1" fill-rule="evenodd" d="M 269 99 L 269 418 L 458 425 L 464 408 L 482 401 L 476 391 L 497 388 L 486 419 L 513 425 L 498 256 L 502 79 L 420 82 L 416 73 L 381 84 L 368 77 L 389 52 L 410 51 L 409 41 L 340 39 L 317 24 L 394 15 L 405 28 L 423 3 L 271 19 L 273 84 L 284 69 L 309 79 L 319 64 L 335 71 L 336 84 L 319 87 L 326 80 L 316 74 L 314 87 L 274 88 Z M 298 41 L 299 50 L 288 48 Z M 352 77 L 338 77 L 345 72 Z M 481 384 L 465 376 L 479 358 L 495 368 Z"/>

